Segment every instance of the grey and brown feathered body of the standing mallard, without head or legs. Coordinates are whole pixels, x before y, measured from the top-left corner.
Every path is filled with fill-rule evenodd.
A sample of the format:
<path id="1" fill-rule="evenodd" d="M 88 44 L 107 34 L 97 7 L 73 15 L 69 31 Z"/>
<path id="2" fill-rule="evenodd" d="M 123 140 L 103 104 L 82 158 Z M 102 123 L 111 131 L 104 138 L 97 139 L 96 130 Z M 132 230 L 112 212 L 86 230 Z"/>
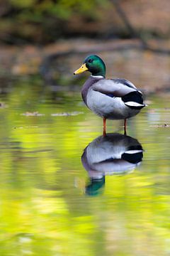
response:
<path id="1" fill-rule="evenodd" d="M 90 77 L 85 82 L 81 94 L 90 110 L 107 119 L 130 118 L 145 107 L 142 102 L 142 93 L 132 82 L 121 78 Z M 129 98 L 128 95 L 130 95 Z M 140 100 L 134 100 L 134 95 L 137 95 L 136 97 Z M 124 97 L 126 102 L 123 101 Z"/>

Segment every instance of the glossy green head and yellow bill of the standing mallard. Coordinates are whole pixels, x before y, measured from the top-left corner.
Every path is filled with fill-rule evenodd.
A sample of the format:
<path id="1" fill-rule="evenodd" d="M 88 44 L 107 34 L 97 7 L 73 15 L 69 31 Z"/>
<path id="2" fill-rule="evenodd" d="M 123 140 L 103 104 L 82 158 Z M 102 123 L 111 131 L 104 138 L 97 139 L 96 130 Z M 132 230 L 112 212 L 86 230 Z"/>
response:
<path id="1" fill-rule="evenodd" d="M 78 70 L 74 71 L 74 75 L 83 73 L 84 71 L 91 72 L 91 75 L 102 75 L 105 78 L 106 66 L 98 55 L 90 55 L 84 60 L 84 64 Z"/>

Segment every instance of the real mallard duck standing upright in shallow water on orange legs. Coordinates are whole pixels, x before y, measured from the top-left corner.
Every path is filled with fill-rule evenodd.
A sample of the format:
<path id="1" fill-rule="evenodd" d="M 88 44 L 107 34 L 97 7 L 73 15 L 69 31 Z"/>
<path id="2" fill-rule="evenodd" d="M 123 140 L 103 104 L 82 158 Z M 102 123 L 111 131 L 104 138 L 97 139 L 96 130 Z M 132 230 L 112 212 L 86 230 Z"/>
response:
<path id="1" fill-rule="evenodd" d="M 126 119 L 135 116 L 145 104 L 142 92 L 132 82 L 122 79 L 106 79 L 106 65 L 98 55 L 90 55 L 74 75 L 89 71 L 91 76 L 84 83 L 81 95 L 87 107 L 103 118 L 103 135 L 106 135 L 106 119 Z"/>

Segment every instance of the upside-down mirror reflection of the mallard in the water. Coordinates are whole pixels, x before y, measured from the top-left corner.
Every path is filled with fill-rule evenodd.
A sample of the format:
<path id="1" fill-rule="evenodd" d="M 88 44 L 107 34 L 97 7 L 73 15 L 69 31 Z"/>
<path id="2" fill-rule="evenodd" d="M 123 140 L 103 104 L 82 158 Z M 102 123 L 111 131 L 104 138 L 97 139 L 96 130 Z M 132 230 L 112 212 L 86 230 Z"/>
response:
<path id="1" fill-rule="evenodd" d="M 98 195 L 103 191 L 106 175 L 128 173 L 140 165 L 142 157 L 143 149 L 137 139 L 118 133 L 97 137 L 81 156 L 90 177 L 86 194 Z"/>

